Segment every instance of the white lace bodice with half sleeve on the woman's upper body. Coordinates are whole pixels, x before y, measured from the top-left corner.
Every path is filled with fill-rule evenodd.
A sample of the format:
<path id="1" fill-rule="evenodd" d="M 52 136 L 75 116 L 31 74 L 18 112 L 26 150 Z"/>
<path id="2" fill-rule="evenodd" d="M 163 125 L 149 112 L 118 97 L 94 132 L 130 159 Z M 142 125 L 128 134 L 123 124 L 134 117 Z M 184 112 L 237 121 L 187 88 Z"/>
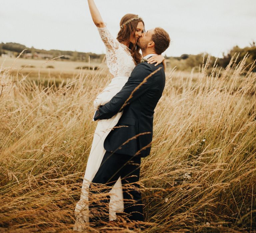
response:
<path id="1" fill-rule="evenodd" d="M 107 27 L 97 28 L 106 46 L 107 66 L 114 77 L 129 77 L 135 68 L 129 49 L 114 38 Z"/>

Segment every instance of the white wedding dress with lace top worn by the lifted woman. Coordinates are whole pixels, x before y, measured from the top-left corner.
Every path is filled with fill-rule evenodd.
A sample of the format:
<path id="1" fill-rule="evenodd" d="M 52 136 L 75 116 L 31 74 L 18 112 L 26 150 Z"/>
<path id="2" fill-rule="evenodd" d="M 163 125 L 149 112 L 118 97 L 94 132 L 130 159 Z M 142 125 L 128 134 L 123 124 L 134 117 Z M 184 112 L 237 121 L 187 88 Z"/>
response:
<path id="1" fill-rule="evenodd" d="M 98 28 L 102 41 L 106 46 L 106 59 L 107 65 L 114 78 L 111 83 L 96 97 L 94 100 L 94 108 L 97 109 L 100 105 L 104 105 L 114 97 L 127 82 L 132 70 L 135 68 L 134 60 L 131 56 L 129 49 L 119 43 L 109 33 L 106 27 Z M 91 151 L 88 157 L 85 175 L 83 179 L 83 185 L 81 190 L 80 201 L 75 208 L 76 222 L 74 230 L 83 230 L 85 223 L 89 222 L 89 206 L 88 206 L 88 190 L 92 179 L 99 169 L 103 156 L 106 150 L 103 147 L 103 143 L 108 133 L 114 127 L 122 112 L 116 114 L 110 119 L 98 120 L 97 127 L 94 133 Z M 123 191 L 121 177 L 109 192 L 109 220 L 116 219 L 116 212 L 123 212 Z"/>

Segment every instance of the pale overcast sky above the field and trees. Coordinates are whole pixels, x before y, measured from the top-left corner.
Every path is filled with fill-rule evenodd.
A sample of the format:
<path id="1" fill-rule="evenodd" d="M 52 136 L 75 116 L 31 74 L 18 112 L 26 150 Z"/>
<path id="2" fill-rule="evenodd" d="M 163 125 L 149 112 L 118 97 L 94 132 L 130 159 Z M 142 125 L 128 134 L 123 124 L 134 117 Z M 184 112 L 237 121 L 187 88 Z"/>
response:
<path id="1" fill-rule="evenodd" d="M 222 56 L 256 41 L 256 0 L 95 0 L 116 36 L 126 13 L 141 16 L 146 30 L 164 28 L 167 56 L 208 52 Z M 0 0 L 0 42 L 38 49 L 105 53 L 86 0 Z"/>

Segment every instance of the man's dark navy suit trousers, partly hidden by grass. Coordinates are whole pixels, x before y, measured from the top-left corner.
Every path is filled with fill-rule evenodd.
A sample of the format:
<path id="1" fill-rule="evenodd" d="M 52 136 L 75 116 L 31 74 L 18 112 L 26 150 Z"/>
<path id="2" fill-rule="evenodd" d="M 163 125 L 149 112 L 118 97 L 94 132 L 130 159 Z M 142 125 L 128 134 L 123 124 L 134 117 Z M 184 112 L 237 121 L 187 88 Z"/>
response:
<path id="1" fill-rule="evenodd" d="M 140 162 L 138 156 L 106 151 L 99 170 L 89 186 L 89 222 L 107 222 L 109 217 L 108 192 L 121 176 L 124 213 L 128 220 L 144 221 L 140 188 Z"/>

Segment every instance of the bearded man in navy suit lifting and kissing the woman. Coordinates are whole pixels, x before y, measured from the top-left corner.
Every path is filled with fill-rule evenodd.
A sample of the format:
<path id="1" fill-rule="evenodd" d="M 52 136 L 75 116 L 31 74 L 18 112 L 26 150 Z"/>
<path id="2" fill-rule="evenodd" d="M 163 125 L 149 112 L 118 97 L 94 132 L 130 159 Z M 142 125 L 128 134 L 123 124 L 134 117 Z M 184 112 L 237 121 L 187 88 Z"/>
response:
<path id="1" fill-rule="evenodd" d="M 109 119 L 123 111 L 117 125 L 104 141 L 106 153 L 89 187 L 89 199 L 92 193 L 106 194 L 99 203 L 95 200 L 91 201 L 90 222 L 101 225 L 100 222 L 108 221 L 109 195 L 107 193 L 119 176 L 121 176 L 123 188 L 123 214 L 126 214 L 131 221 L 144 221 L 143 204 L 138 191 L 139 184 L 137 184 L 140 162 L 141 157 L 146 157 L 150 153 L 154 109 L 165 86 L 163 64 L 154 66 L 146 61 L 153 55 L 162 54 L 169 44 L 170 37 L 162 28 L 158 27 L 143 33 L 137 43 L 142 51 L 142 62 L 134 68 L 122 90 L 107 104 L 100 106 L 95 113 L 94 120 L 98 120 Z M 104 186 L 103 189 L 102 186 Z M 98 213 L 93 213 L 93 210 Z"/>

